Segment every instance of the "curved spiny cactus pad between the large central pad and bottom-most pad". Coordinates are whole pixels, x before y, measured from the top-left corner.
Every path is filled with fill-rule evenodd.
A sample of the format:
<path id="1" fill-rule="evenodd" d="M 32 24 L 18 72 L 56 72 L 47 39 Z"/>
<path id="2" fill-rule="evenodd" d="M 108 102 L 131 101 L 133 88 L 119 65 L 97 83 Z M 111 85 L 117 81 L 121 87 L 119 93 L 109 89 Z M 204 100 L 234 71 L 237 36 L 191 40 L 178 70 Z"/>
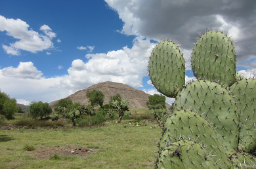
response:
<path id="1" fill-rule="evenodd" d="M 159 147 L 161 152 L 178 140 L 196 141 L 203 145 L 207 152 L 215 154 L 213 160 L 218 161 L 222 168 L 230 168 L 228 156 L 219 139 L 215 130 L 202 116 L 192 111 L 182 110 L 175 111 L 165 122 Z"/>

